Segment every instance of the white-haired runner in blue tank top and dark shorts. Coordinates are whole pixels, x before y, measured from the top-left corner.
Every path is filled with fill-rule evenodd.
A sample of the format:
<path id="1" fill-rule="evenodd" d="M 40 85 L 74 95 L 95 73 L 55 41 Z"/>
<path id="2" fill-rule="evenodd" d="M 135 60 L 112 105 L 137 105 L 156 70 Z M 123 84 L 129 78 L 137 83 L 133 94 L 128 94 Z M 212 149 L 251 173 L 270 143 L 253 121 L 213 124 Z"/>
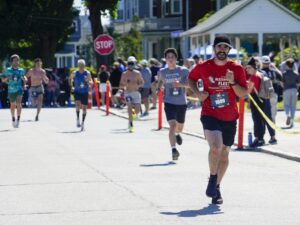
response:
<path id="1" fill-rule="evenodd" d="M 76 115 L 77 115 L 77 127 L 81 127 L 81 131 L 84 130 L 84 121 L 87 113 L 87 105 L 88 105 L 88 92 L 89 86 L 93 85 L 91 73 L 85 69 L 85 61 L 83 59 L 79 59 L 78 62 L 78 70 L 75 70 L 71 73 L 69 82 L 72 90 L 74 91 L 75 97 L 75 106 L 76 106 Z M 80 108 L 82 108 L 82 122 L 80 124 Z"/>

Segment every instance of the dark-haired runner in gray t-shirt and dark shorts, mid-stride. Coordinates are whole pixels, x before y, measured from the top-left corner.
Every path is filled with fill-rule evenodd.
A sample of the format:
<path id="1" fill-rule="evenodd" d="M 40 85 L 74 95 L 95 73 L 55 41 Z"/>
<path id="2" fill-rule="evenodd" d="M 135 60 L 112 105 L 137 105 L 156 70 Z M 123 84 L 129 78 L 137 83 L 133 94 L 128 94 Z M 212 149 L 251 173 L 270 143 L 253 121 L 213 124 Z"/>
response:
<path id="1" fill-rule="evenodd" d="M 158 72 L 158 88 L 164 86 L 164 105 L 167 121 L 169 123 L 169 141 L 172 148 L 172 158 L 177 160 L 179 152 L 176 148 L 182 144 L 180 133 L 183 130 L 185 122 L 185 113 L 187 109 L 186 91 L 188 87 L 187 78 L 188 69 L 177 66 L 177 51 L 174 48 L 165 50 L 167 67 Z"/>

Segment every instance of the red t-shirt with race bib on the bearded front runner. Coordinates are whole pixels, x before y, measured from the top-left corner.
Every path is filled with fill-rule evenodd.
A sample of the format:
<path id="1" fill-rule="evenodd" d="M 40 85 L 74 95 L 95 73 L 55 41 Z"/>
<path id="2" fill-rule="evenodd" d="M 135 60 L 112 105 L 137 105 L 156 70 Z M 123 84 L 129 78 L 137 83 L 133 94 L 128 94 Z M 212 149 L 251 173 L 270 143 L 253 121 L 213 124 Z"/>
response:
<path id="1" fill-rule="evenodd" d="M 247 88 L 246 74 L 243 67 L 231 60 L 225 65 L 219 66 L 214 63 L 213 59 L 209 59 L 202 64 L 198 64 L 190 72 L 189 79 L 195 82 L 202 79 L 204 90 L 209 94 L 203 102 L 201 115 L 211 116 L 222 121 L 238 119 L 237 96 L 229 85 L 229 81 L 225 78 L 227 69 L 233 71 L 235 82 Z M 216 106 L 215 102 L 224 104 Z"/>

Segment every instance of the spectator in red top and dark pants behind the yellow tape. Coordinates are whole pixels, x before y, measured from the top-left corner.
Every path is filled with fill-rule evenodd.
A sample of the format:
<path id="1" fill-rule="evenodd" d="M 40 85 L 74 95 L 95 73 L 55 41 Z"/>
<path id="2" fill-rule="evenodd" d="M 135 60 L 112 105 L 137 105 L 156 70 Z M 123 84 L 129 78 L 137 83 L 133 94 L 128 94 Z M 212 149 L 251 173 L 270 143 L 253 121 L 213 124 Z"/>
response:
<path id="1" fill-rule="evenodd" d="M 263 112 L 266 114 L 266 116 L 272 120 L 271 117 L 271 104 L 270 100 L 267 98 L 262 98 L 259 96 L 259 90 L 261 87 L 261 82 L 263 82 L 264 74 L 258 71 L 257 63 L 254 57 L 251 57 L 248 61 L 246 67 L 246 72 L 249 75 L 249 86 L 248 91 L 258 107 L 263 110 Z M 269 130 L 271 139 L 269 140 L 269 144 L 277 144 L 277 139 L 275 137 L 275 130 L 266 123 L 263 116 L 260 114 L 256 106 L 249 102 L 251 114 L 252 114 L 252 120 L 254 125 L 254 141 L 250 145 L 250 147 L 259 147 L 265 144 L 264 135 L 266 131 L 266 126 Z"/>

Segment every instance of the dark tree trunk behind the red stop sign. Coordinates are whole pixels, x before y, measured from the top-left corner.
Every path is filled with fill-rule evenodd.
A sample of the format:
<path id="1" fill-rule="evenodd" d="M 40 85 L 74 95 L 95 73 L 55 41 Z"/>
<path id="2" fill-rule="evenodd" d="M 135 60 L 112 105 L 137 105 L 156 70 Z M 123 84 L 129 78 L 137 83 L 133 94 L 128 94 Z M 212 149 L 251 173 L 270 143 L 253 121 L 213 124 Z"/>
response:
<path id="1" fill-rule="evenodd" d="M 90 10 L 89 19 L 92 27 L 92 35 L 93 35 L 93 40 L 95 40 L 98 35 L 103 34 L 100 7 L 98 6 L 97 1 L 90 1 L 89 10 Z M 94 54 L 97 62 L 97 69 L 100 67 L 101 64 L 108 65 L 107 56 L 101 56 L 95 51 Z"/>

